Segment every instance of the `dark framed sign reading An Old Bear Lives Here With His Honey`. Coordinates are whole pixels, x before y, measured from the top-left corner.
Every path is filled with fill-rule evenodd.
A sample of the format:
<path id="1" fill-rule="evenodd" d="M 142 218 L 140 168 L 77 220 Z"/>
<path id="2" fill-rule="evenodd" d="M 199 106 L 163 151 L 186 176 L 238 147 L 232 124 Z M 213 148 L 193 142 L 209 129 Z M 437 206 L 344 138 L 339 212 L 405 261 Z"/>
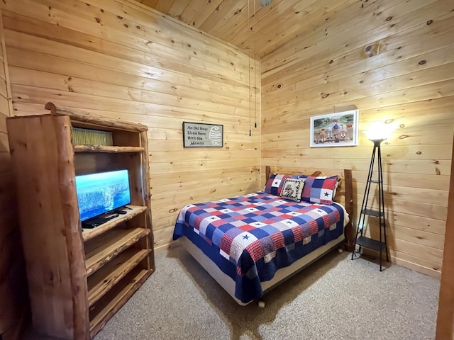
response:
<path id="1" fill-rule="evenodd" d="M 184 147 L 223 147 L 223 125 L 183 122 Z"/>

